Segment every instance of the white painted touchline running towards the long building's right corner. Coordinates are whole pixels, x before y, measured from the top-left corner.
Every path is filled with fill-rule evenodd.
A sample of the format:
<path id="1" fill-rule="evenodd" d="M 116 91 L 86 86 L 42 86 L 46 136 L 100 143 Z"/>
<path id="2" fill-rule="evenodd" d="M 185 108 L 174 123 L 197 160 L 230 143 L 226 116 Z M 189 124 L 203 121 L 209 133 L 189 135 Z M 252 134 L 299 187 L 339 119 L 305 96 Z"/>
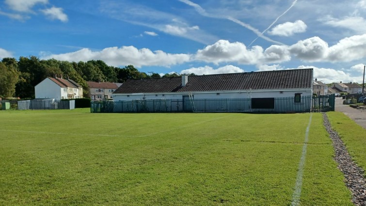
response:
<path id="1" fill-rule="evenodd" d="M 313 114 L 310 114 L 309 124 L 306 127 L 305 132 L 305 141 L 302 146 L 302 155 L 299 163 L 299 168 L 297 171 L 297 177 L 296 177 L 296 185 L 294 188 L 294 193 L 292 195 L 292 203 L 291 206 L 299 206 L 300 205 L 300 196 L 301 196 L 301 188 L 302 188 L 302 175 L 304 173 L 304 164 L 305 164 L 305 156 L 306 156 L 306 148 L 307 148 L 307 141 L 309 139 L 309 129 L 311 125 L 311 118 Z"/>

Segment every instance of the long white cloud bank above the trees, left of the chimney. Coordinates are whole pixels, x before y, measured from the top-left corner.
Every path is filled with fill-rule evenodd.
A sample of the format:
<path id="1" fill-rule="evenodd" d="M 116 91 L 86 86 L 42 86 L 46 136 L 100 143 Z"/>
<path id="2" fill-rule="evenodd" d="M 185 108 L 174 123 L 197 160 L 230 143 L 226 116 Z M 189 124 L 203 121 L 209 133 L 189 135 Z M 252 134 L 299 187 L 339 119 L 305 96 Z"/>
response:
<path id="1" fill-rule="evenodd" d="M 62 61 L 89 61 L 103 60 L 109 65 L 124 66 L 132 64 L 136 67 L 141 66 L 171 66 L 175 64 L 189 62 L 191 56 L 188 54 L 170 54 L 161 50 L 151 51 L 148 48 L 137 49 L 129 47 L 111 47 L 104 48 L 101 51 L 92 51 L 89 48 L 83 48 L 75 52 L 65 54 L 54 54 L 44 56 L 42 59 L 57 59 Z"/>

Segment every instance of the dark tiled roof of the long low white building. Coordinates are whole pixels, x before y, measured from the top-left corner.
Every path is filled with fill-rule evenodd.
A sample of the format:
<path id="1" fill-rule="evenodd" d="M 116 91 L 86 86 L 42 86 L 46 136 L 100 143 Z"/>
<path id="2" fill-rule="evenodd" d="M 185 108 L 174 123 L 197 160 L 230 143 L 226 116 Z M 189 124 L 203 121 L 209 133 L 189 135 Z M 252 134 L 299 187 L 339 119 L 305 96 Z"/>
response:
<path id="1" fill-rule="evenodd" d="M 188 77 L 129 79 L 114 94 L 311 88 L 313 69 L 245 72 Z"/>

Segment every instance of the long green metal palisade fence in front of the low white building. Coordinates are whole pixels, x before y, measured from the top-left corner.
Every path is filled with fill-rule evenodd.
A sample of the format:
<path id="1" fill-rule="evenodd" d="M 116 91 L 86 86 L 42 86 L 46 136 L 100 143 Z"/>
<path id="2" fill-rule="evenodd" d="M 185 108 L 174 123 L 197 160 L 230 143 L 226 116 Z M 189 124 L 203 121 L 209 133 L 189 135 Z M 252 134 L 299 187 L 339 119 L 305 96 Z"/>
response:
<path id="1" fill-rule="evenodd" d="M 91 113 L 153 112 L 242 112 L 302 113 L 334 111 L 334 95 L 277 98 L 223 99 L 136 99 L 128 101 L 92 101 Z"/>

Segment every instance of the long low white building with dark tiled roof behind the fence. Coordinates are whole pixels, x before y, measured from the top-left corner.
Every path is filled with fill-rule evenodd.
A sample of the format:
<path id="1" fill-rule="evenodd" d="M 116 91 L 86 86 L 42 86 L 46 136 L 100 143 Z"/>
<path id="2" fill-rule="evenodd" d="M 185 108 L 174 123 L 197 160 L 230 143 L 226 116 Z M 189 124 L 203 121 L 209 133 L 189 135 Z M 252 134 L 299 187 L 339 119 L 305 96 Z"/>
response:
<path id="1" fill-rule="evenodd" d="M 312 95 L 313 69 L 129 79 L 113 100 L 275 98 Z"/>

